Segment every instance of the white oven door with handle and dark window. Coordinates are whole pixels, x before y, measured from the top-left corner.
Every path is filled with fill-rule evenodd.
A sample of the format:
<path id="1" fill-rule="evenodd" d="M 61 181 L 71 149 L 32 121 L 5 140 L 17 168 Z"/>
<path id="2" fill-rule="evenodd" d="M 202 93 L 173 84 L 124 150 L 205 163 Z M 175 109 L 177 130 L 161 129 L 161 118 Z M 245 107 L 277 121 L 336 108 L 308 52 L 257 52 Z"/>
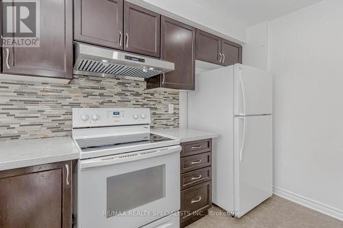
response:
<path id="1" fill-rule="evenodd" d="M 180 210 L 180 150 L 81 160 L 78 227 L 137 228 Z"/>

